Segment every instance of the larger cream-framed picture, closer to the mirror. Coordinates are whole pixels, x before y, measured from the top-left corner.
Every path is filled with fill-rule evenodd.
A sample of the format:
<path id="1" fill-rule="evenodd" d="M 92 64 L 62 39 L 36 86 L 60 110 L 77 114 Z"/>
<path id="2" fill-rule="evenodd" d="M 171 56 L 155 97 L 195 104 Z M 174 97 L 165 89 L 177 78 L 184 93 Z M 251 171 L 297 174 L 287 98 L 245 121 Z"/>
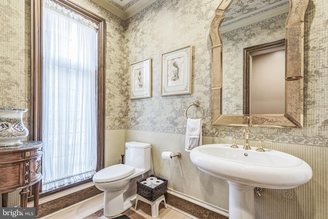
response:
<path id="1" fill-rule="evenodd" d="M 162 96 L 192 93 L 192 46 L 162 54 Z"/>

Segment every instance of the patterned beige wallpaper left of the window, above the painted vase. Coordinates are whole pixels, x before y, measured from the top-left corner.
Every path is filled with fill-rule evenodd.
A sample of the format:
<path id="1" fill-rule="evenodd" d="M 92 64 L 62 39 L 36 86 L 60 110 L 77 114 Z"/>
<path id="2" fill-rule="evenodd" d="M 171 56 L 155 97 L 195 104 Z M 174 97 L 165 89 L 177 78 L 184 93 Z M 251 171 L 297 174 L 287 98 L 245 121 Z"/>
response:
<path id="1" fill-rule="evenodd" d="M 30 3 L 5 0 L 0 10 L 0 105 L 29 108 Z M 24 121 L 29 124 L 29 116 Z"/>

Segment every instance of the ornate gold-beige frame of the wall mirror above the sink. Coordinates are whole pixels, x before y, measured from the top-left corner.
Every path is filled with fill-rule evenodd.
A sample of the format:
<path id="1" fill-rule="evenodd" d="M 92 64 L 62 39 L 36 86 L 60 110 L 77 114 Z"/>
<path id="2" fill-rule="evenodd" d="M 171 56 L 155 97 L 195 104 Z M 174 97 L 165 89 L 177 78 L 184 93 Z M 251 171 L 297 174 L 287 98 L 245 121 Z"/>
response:
<path id="1" fill-rule="evenodd" d="M 212 125 L 303 127 L 304 16 L 309 0 L 289 0 L 285 25 L 285 113 L 222 114 L 222 39 L 220 25 L 233 0 L 222 0 L 210 27 L 212 42 Z M 235 0 L 237 1 L 237 0 Z"/>

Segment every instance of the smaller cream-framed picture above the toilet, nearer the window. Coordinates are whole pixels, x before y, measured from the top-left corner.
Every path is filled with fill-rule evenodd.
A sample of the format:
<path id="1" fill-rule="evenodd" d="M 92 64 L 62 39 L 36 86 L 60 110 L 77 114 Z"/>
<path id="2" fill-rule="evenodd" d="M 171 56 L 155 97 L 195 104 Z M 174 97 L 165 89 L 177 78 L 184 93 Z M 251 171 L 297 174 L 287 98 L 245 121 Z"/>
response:
<path id="1" fill-rule="evenodd" d="M 131 65 L 131 99 L 152 97 L 152 58 Z"/>

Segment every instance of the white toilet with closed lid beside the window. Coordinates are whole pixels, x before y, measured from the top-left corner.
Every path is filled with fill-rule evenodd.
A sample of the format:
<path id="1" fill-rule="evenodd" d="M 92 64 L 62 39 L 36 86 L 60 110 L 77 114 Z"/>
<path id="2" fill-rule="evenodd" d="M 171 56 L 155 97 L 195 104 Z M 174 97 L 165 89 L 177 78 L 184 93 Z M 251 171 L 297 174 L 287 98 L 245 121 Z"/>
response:
<path id="1" fill-rule="evenodd" d="M 151 168 L 150 144 L 128 142 L 125 146 L 125 164 L 106 167 L 92 178 L 97 189 L 104 191 L 104 215 L 107 217 L 120 214 L 134 204 L 136 181 L 146 177 Z"/>

